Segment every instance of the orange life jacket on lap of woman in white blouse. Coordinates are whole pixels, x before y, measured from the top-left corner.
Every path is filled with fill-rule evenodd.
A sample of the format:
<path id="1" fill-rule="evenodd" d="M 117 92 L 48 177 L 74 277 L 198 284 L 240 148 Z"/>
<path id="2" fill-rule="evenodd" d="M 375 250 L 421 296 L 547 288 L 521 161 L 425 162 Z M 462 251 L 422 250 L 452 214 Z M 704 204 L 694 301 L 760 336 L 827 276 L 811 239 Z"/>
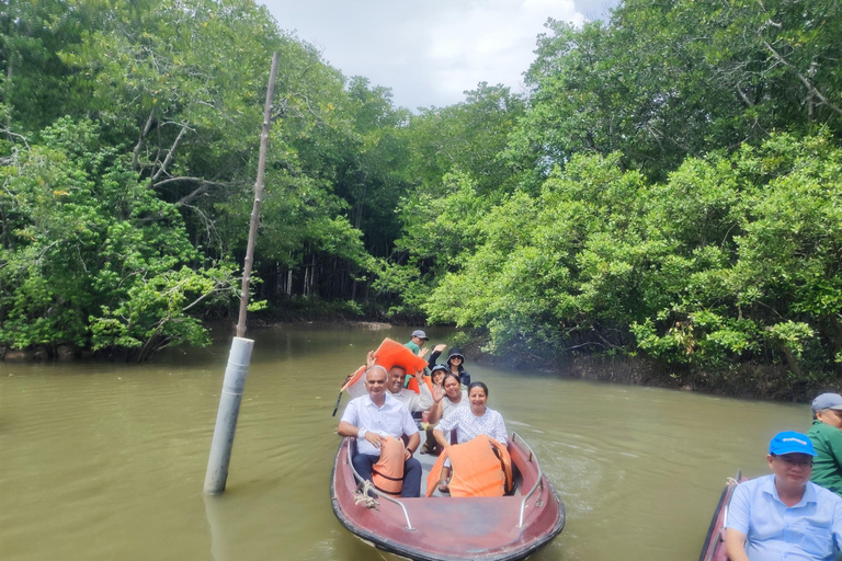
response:
<path id="1" fill-rule="evenodd" d="M 442 477 L 444 460 L 451 458 L 451 496 L 503 496 L 512 490 L 512 458 L 504 444 L 479 435 L 465 444 L 446 448 L 426 480 L 426 496 L 432 496 Z"/>

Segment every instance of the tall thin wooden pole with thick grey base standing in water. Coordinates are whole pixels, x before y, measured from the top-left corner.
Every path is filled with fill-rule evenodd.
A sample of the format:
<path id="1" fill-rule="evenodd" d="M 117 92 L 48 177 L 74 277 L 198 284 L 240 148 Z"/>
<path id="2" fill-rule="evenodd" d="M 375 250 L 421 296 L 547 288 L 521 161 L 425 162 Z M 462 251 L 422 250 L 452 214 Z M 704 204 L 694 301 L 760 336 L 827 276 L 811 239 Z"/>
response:
<path id="1" fill-rule="evenodd" d="M 266 149 L 269 147 L 269 130 L 272 127 L 272 95 L 277 76 L 277 53 L 272 55 L 272 70 L 266 88 L 266 104 L 263 108 L 263 129 L 260 134 L 260 159 L 258 160 L 258 180 L 254 183 L 254 206 L 251 209 L 251 226 L 249 242 L 246 247 L 246 263 L 242 267 L 242 291 L 240 294 L 240 317 L 237 322 L 237 336 L 231 341 L 228 355 L 228 366 L 223 380 L 223 393 L 219 397 L 219 410 L 216 413 L 214 439 L 210 443 L 210 456 L 207 459 L 205 472 L 205 493 L 217 494 L 225 491 L 228 480 L 228 465 L 231 461 L 234 435 L 237 431 L 237 417 L 240 414 L 242 389 L 246 376 L 249 374 L 251 351 L 254 341 L 243 339 L 246 334 L 246 313 L 249 307 L 249 284 L 251 282 L 251 264 L 254 260 L 254 240 L 258 237 L 260 222 L 260 204 L 263 201 L 263 175 L 266 170 Z"/>

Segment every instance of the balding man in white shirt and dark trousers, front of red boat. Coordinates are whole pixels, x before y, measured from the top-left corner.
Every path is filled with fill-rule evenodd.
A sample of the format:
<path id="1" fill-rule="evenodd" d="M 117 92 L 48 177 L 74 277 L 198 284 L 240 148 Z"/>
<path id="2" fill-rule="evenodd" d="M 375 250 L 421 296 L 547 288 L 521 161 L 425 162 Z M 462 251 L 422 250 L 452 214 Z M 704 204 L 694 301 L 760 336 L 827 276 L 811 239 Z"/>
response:
<path id="1" fill-rule="evenodd" d="M 356 472 L 367 480 L 372 479 L 372 468 L 380 457 L 385 437 L 408 436 L 400 494 L 406 497 L 420 496 L 421 462 L 412 455 L 421 444 L 421 436 L 407 407 L 386 389 L 388 379 L 383 366 L 375 365 L 366 370 L 365 389 L 368 394 L 348 403 L 337 433 L 356 438 L 356 454 L 352 461 Z"/>

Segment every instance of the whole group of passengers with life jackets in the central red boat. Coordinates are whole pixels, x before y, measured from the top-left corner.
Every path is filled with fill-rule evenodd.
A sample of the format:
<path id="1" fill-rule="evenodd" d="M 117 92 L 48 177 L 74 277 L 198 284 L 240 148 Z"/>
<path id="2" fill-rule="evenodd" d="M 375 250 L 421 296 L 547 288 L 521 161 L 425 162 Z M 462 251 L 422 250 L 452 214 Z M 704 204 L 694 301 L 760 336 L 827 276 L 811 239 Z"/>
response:
<path id="1" fill-rule="evenodd" d="M 405 346 L 417 356 L 424 357 L 428 348 L 423 344 L 428 340 L 423 331 L 416 330 Z M 436 479 L 428 482 L 428 490 L 437 489 L 441 493 L 451 491 L 451 462 L 457 461 L 456 458 L 469 457 L 470 460 L 464 462 L 458 460 L 462 466 L 466 466 L 459 469 L 468 470 L 469 463 L 486 457 L 485 453 L 490 453 L 498 459 L 501 473 L 505 474 L 508 453 L 503 417 L 487 407 L 488 387 L 481 381 L 470 381 L 470 375 L 464 366 L 465 358 L 458 347 L 451 348 L 444 364 L 436 364 L 445 347 L 444 344 L 436 345 L 428 368 L 416 373 L 407 373 L 401 366 L 392 366 L 387 370 L 377 364 L 374 351 L 366 357 L 366 394 L 349 402 L 337 433 L 356 439 L 352 459 L 354 469 L 364 480 L 372 481 L 380 492 L 405 497 L 421 496 L 422 468 L 421 462 L 414 458 L 421 437 L 413 413 L 421 413 L 429 427 L 422 453 L 446 456 L 436 463 L 441 469 L 436 471 L 434 468 L 431 472 L 430 478 Z M 425 375 L 426 369 L 429 376 Z M 408 386 L 413 379 L 417 388 L 410 389 Z M 455 448 L 452 449 L 452 432 L 455 432 L 456 445 L 474 440 L 488 444 L 479 444 L 479 449 L 466 447 L 457 453 Z M 460 474 L 465 476 L 462 471 Z M 479 485 L 474 482 L 471 492 L 502 494 L 509 483 L 491 478 L 487 483 L 480 481 Z M 428 494 L 431 492 L 428 491 Z"/>

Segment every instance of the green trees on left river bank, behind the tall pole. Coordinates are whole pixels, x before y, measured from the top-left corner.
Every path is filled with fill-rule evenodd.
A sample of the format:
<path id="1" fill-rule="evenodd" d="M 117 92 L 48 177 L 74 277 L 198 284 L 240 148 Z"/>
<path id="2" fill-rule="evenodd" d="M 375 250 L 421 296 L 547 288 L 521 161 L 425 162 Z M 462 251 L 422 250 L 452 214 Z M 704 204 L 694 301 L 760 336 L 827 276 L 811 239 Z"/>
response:
<path id="1" fill-rule="evenodd" d="M 275 309 L 349 298 L 372 254 L 388 252 L 395 226 L 369 228 L 371 253 L 360 228 L 397 203 L 389 158 L 400 153 L 380 145 L 406 112 L 265 9 L 0 7 L 0 350 L 144 358 L 206 341 L 202 319 L 236 308 L 273 50 L 257 298 Z"/>

